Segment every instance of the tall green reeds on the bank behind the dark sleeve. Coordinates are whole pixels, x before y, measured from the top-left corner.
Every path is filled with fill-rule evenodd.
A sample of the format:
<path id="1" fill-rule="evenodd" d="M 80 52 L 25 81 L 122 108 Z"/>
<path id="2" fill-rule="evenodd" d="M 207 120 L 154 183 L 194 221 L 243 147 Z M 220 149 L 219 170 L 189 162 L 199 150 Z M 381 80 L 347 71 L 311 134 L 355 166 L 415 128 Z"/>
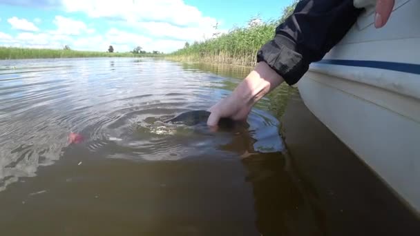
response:
<path id="1" fill-rule="evenodd" d="M 175 61 L 199 61 L 206 63 L 228 63 L 240 66 L 254 66 L 256 53 L 267 41 L 273 39 L 276 26 L 285 21 L 292 14 L 296 3 L 283 10 L 278 20 L 263 22 L 258 25 L 248 25 L 233 28 L 227 34 L 214 39 L 207 39 L 200 43 L 171 53 L 166 58 Z"/>

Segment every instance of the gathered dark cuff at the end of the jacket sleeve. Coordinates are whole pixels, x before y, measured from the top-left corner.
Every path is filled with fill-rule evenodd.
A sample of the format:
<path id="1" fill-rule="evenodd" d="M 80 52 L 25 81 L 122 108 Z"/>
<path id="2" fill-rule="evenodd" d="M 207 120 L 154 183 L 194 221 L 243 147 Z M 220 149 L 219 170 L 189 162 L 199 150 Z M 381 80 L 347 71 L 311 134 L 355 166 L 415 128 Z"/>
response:
<path id="1" fill-rule="evenodd" d="M 294 42 L 283 35 L 276 35 L 258 50 L 257 62 L 260 61 L 265 61 L 289 86 L 297 83 L 309 69 L 309 63 L 296 52 Z"/>

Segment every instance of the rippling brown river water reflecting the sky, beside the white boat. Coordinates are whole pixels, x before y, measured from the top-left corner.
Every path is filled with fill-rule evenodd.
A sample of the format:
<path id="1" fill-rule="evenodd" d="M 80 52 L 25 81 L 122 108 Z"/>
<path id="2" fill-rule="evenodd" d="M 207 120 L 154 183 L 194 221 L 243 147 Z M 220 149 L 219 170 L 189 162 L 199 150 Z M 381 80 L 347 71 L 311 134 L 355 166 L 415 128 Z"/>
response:
<path id="1" fill-rule="evenodd" d="M 1 61 L 1 234 L 418 235 L 418 219 L 293 88 L 262 99 L 234 132 L 162 122 L 209 108 L 247 72 Z M 70 132 L 84 141 L 69 144 Z"/>

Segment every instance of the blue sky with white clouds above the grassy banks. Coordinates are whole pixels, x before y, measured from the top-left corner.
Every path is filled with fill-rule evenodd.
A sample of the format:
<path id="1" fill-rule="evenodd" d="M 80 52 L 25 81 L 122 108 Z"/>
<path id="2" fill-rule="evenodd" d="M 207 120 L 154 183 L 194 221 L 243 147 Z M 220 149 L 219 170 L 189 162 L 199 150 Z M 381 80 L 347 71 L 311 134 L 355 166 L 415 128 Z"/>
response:
<path id="1" fill-rule="evenodd" d="M 0 46 L 173 52 L 185 42 L 278 19 L 292 0 L 0 0 Z M 215 28 L 214 26 L 216 26 Z"/>

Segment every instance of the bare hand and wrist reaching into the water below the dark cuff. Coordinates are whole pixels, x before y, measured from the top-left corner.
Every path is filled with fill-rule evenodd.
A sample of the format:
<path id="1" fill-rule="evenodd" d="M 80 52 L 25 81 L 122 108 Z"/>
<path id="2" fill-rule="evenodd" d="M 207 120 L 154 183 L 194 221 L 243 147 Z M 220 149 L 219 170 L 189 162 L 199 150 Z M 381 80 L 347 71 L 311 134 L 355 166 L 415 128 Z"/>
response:
<path id="1" fill-rule="evenodd" d="M 207 125 L 217 128 L 222 117 L 234 120 L 247 119 L 252 106 L 284 80 L 267 63 L 260 62 L 249 75 L 233 90 L 232 94 L 212 106 Z"/>

